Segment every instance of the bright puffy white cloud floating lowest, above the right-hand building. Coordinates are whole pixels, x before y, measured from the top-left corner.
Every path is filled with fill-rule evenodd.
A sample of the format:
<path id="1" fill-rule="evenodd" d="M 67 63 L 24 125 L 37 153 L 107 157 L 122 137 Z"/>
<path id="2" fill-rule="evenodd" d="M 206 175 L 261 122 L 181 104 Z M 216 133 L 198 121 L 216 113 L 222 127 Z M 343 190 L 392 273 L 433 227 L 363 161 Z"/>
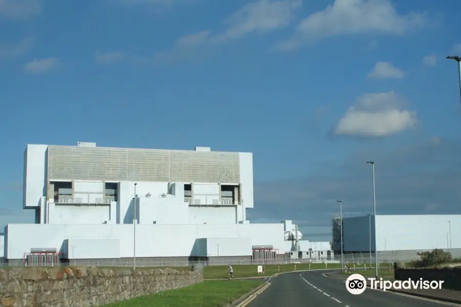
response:
<path id="1" fill-rule="evenodd" d="M 402 110 L 405 101 L 394 92 L 365 94 L 349 107 L 334 134 L 384 137 L 414 128 L 416 112 Z"/>

